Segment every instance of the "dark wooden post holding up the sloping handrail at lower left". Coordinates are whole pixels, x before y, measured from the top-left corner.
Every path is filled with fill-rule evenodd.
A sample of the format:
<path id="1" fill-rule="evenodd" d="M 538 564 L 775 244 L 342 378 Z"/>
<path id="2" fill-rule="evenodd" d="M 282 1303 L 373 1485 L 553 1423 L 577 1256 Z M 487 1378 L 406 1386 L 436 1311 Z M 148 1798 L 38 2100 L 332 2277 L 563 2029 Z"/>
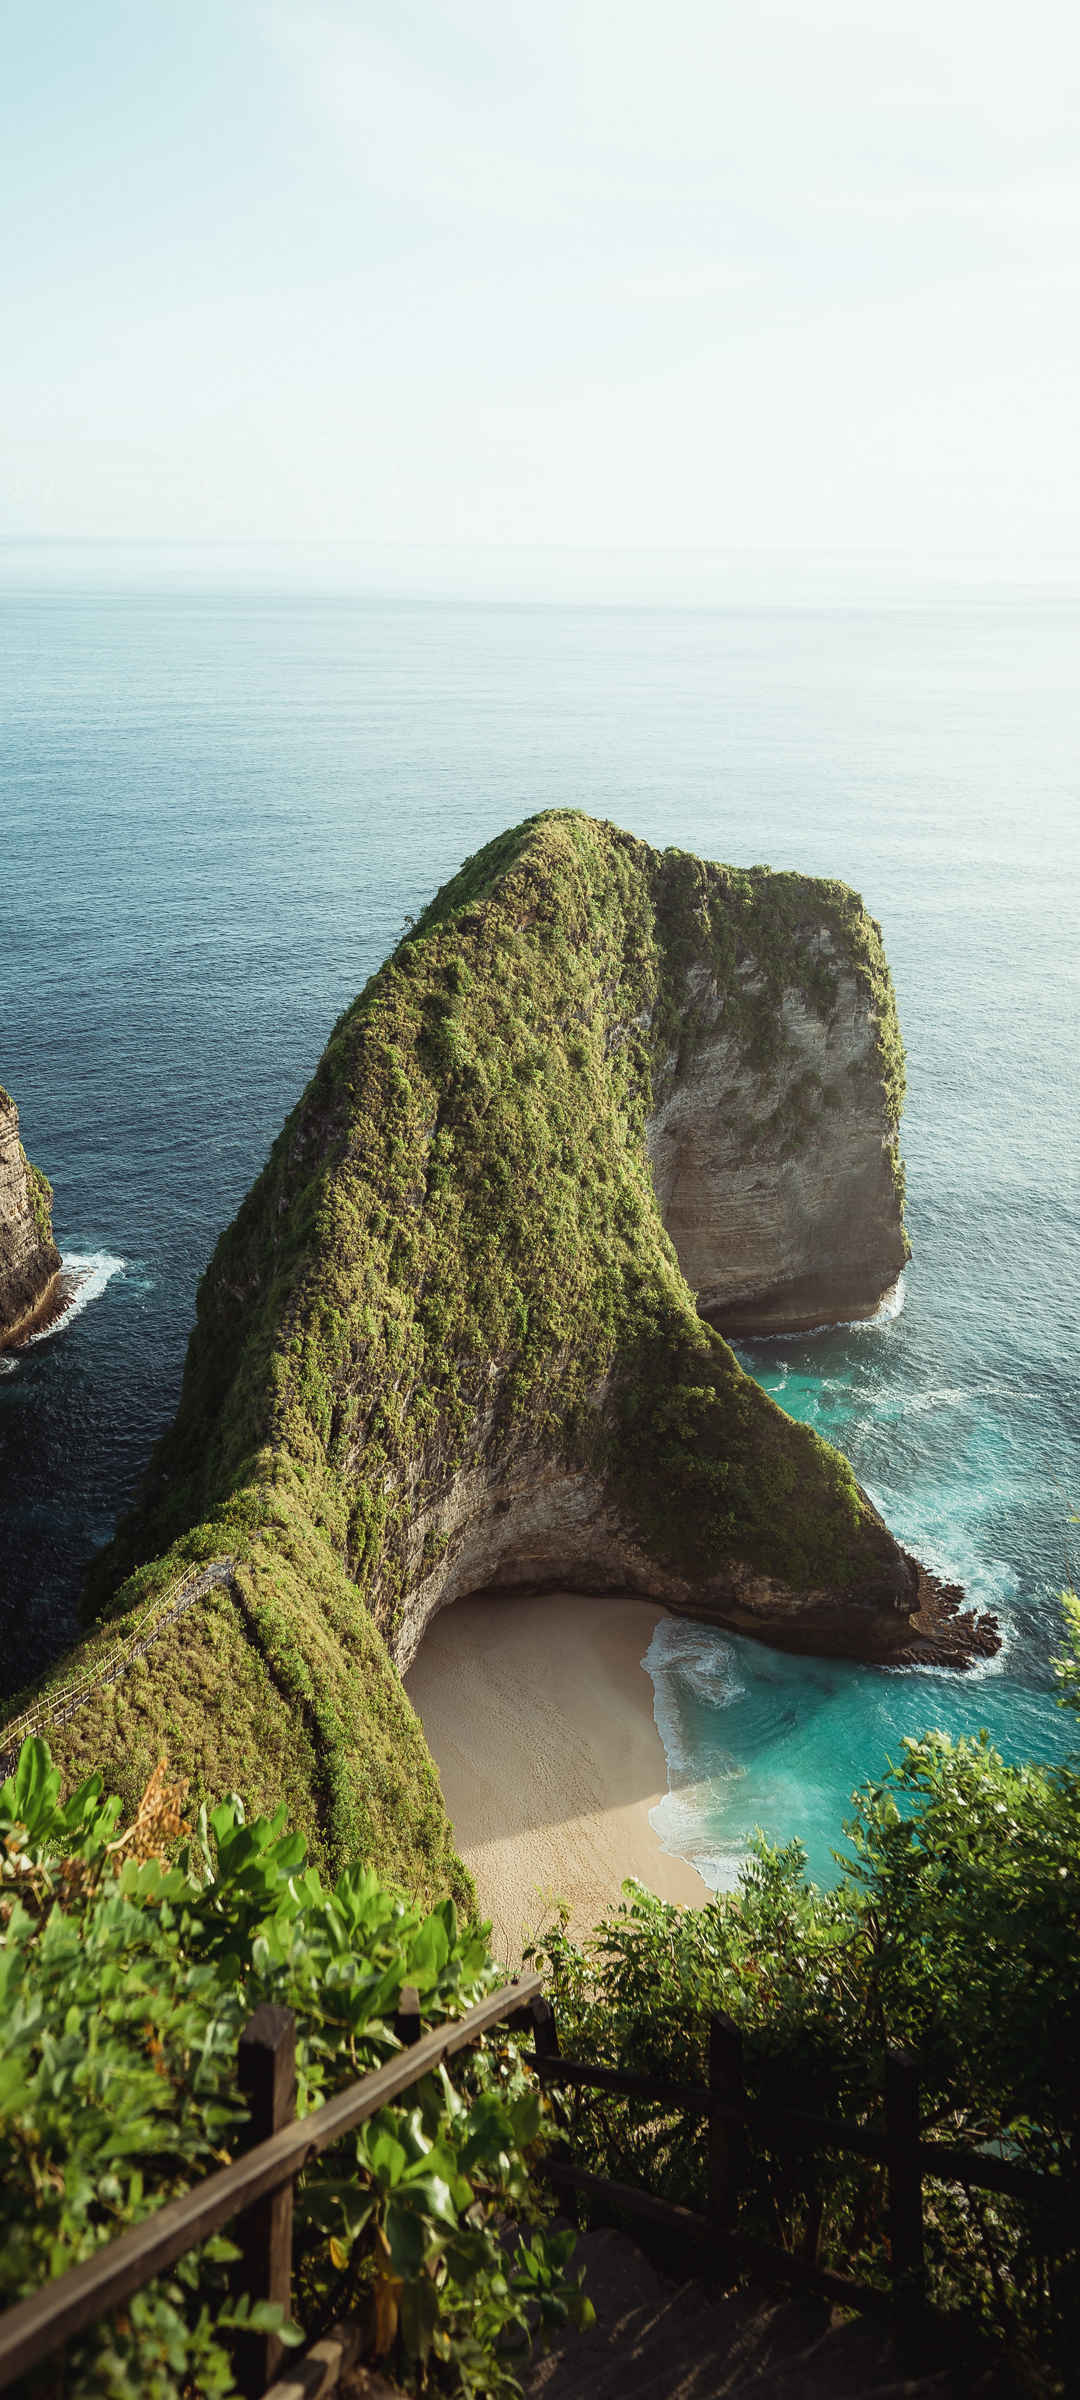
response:
<path id="1" fill-rule="evenodd" d="M 238 2047 L 238 2083 L 252 2112 L 245 2150 L 269 2141 L 295 2117 L 295 2016 L 269 2002 L 247 2018 Z M 235 2222 L 242 2256 L 233 2268 L 235 2290 L 254 2299 L 281 2302 L 286 2316 L 293 2297 L 293 2184 L 269 2191 L 245 2208 Z M 276 2333 L 235 2335 L 235 2378 L 245 2400 L 259 2400 L 278 2371 L 283 2342 Z"/>

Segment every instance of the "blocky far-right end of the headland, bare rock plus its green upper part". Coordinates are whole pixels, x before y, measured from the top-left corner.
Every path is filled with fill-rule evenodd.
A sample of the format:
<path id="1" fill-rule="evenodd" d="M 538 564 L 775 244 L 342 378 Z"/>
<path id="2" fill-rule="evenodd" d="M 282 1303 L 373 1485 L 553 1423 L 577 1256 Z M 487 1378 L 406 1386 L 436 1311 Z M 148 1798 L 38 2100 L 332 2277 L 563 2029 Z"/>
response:
<path id="1" fill-rule="evenodd" d="M 751 883 L 758 926 L 778 914 L 778 883 Z M 708 950 L 689 955 L 679 1022 L 653 1068 L 646 1142 L 660 1214 L 701 1313 L 727 1334 L 871 1318 L 910 1255 L 902 1049 L 881 931 L 845 907 L 840 886 L 828 893 L 804 886 L 773 972 L 751 910 L 727 972 Z"/>

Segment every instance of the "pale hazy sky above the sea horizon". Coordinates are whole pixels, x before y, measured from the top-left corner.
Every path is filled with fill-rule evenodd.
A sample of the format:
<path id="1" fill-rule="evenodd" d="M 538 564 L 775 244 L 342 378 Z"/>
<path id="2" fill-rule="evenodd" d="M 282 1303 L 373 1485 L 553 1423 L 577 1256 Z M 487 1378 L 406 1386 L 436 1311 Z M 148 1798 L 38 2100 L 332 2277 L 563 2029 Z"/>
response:
<path id="1" fill-rule="evenodd" d="M 1080 574 L 1080 17 L 41 0 L 0 538 Z"/>

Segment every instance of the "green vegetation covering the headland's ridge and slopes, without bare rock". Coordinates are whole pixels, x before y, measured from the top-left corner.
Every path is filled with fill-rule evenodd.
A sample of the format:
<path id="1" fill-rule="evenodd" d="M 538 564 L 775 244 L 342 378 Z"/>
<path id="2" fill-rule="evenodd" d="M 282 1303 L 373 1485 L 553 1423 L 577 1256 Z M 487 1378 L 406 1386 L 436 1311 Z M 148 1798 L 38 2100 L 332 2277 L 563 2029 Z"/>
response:
<path id="1" fill-rule="evenodd" d="M 238 1558 L 235 1598 L 180 1618 L 55 1735 L 72 1774 L 108 1762 L 134 1793 L 168 1750 L 199 1790 L 288 1790 L 326 1862 L 461 1889 L 384 1637 L 406 1529 L 478 1457 L 480 1409 L 485 1454 L 528 1435 L 590 1459 L 684 1572 L 734 1555 L 797 1586 L 876 1579 L 847 1464 L 698 1320 L 643 1147 L 653 1080 L 694 1039 L 686 965 L 708 960 L 768 1068 L 782 989 L 828 1008 L 818 926 L 878 1008 L 898 1114 L 888 970 L 842 886 L 660 857 L 557 811 L 439 893 L 218 1243 L 178 1421 L 94 1586 L 103 1639 L 192 1560 Z"/>

